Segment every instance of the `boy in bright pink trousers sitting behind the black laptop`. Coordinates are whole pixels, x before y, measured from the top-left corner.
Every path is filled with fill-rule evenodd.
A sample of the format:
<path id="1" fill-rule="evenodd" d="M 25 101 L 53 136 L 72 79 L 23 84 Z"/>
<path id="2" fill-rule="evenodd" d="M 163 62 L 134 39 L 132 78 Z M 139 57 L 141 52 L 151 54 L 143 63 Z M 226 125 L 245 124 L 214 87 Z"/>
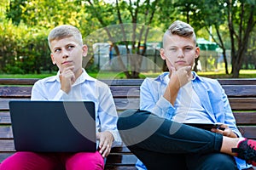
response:
<path id="1" fill-rule="evenodd" d="M 78 28 L 57 26 L 49 32 L 50 57 L 59 71 L 56 76 L 36 82 L 32 100 L 93 101 L 96 105 L 96 152 L 36 153 L 16 152 L 0 166 L 2 170 L 104 169 L 104 158 L 113 143 L 120 144 L 116 127 L 118 119 L 108 85 L 90 77 L 82 67 L 87 46 Z M 75 111 L 73 111 L 75 114 Z M 58 120 L 56 120 L 58 121 Z M 85 120 L 84 120 L 85 123 Z"/>

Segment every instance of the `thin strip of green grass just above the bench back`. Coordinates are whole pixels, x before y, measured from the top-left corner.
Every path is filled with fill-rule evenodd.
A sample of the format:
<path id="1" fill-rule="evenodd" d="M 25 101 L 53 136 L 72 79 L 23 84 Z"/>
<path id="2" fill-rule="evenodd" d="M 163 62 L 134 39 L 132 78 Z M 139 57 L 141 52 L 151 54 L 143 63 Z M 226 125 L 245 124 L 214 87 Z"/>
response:
<path id="1" fill-rule="evenodd" d="M 0 74 L 0 78 L 44 78 L 49 76 L 54 76 L 56 73 L 44 73 L 44 74 L 25 74 L 25 75 L 11 75 L 11 74 Z M 97 79 L 125 79 L 125 74 L 120 72 L 100 72 L 100 73 L 88 73 L 91 77 Z M 140 74 L 141 78 L 145 77 L 157 77 L 160 72 L 142 72 Z M 231 78 L 232 75 L 226 75 L 224 71 L 206 71 L 198 72 L 198 75 L 202 77 L 211 78 Z M 256 70 L 241 70 L 239 78 L 256 78 Z"/>

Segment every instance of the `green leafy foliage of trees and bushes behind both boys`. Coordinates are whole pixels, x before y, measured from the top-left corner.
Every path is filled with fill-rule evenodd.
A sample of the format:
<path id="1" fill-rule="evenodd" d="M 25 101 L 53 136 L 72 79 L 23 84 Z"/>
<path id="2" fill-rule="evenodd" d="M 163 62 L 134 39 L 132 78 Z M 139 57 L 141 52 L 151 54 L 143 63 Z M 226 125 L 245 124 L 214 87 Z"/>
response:
<path id="1" fill-rule="evenodd" d="M 232 2 L 230 6 L 229 2 Z M 113 39 L 109 37 L 112 37 L 121 39 L 117 42 L 119 44 L 135 45 L 137 42 L 139 47 L 147 41 L 160 41 L 159 32 L 164 32 L 173 20 L 188 22 L 195 27 L 197 37 L 208 39 L 212 33 L 213 41 L 220 48 L 233 48 L 232 58 L 236 59 L 237 54 L 241 54 L 243 65 L 238 65 L 239 68 L 250 69 L 255 67 L 256 56 L 255 5 L 252 0 L 2 0 L 0 72 L 56 71 L 57 68 L 51 64 L 47 44 L 49 30 L 55 26 L 69 24 L 79 27 L 88 44 L 96 40 L 111 42 Z M 232 20 L 229 20 L 229 14 Z M 136 23 L 137 28 L 129 27 L 127 23 L 130 26 Z M 124 37 L 121 31 L 113 31 L 109 36 L 107 30 L 120 24 L 127 26 L 124 30 L 131 32 L 127 34 L 130 37 Z M 147 36 L 147 26 L 159 31 L 151 31 Z M 212 32 L 209 31 L 210 26 Z M 134 35 L 136 39 L 132 37 Z M 237 43 L 230 40 L 230 35 Z M 246 43 L 241 46 L 241 42 Z M 87 69 L 96 71 L 99 68 L 93 65 L 91 48 L 90 44 L 89 60 L 85 65 Z"/>

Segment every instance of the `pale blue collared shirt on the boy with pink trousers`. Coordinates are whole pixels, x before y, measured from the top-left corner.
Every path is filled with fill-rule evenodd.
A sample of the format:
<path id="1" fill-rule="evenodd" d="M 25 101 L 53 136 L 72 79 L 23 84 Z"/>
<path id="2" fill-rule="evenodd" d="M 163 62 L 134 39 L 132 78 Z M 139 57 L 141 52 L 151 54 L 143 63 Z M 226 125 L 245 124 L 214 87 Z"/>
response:
<path id="1" fill-rule="evenodd" d="M 121 144 L 116 123 L 117 111 L 108 85 L 90 77 L 83 69 L 83 73 L 73 83 L 68 94 L 61 90 L 60 73 L 35 82 L 32 87 L 32 100 L 80 100 L 93 101 L 96 112 L 96 131 L 108 130 L 113 134 L 113 146 Z"/>

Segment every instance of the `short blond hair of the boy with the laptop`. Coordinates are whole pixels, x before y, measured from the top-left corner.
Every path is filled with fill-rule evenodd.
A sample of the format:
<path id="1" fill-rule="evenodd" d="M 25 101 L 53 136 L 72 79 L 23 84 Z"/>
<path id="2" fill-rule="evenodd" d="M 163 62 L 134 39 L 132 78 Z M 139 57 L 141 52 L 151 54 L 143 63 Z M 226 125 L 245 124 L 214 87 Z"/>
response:
<path id="1" fill-rule="evenodd" d="M 74 37 L 79 45 L 83 46 L 83 38 L 79 29 L 75 26 L 62 25 L 56 26 L 49 32 L 48 43 L 50 48 L 50 42 L 54 40 L 60 40 L 66 37 Z"/>

